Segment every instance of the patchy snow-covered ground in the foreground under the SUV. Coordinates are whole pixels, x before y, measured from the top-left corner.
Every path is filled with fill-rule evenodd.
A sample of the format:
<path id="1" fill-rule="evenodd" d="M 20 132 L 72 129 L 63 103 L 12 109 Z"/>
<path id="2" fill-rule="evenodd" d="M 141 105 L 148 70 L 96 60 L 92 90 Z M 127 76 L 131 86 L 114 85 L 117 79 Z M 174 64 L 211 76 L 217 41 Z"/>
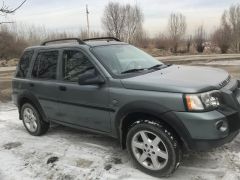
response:
<path id="1" fill-rule="evenodd" d="M 184 155 L 170 180 L 240 178 L 240 136 L 209 152 Z M 47 164 L 51 157 L 58 157 Z M 54 158 L 52 158 L 54 159 Z M 63 126 L 29 135 L 11 103 L 0 103 L 0 180 L 154 180 L 135 169 L 118 141 Z"/>

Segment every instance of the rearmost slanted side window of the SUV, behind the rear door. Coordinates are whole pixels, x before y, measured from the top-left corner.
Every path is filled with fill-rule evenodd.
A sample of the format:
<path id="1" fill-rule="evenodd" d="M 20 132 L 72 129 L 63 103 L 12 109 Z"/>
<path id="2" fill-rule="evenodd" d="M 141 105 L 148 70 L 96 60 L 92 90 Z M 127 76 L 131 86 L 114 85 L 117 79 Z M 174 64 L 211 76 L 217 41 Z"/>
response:
<path id="1" fill-rule="evenodd" d="M 19 61 L 16 77 L 19 77 L 19 78 L 26 77 L 28 70 L 29 70 L 29 65 L 30 65 L 32 56 L 33 56 L 33 51 L 25 51 L 23 53 L 23 55 Z"/>

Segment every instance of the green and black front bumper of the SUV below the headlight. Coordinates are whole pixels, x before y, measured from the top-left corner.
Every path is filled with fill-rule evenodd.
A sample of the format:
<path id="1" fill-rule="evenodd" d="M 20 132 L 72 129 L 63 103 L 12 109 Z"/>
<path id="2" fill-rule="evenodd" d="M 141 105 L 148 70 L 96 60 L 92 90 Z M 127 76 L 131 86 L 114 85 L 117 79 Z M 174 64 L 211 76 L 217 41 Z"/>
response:
<path id="1" fill-rule="evenodd" d="M 176 112 L 175 115 L 188 130 L 185 144 L 190 150 L 208 150 L 230 142 L 239 132 L 239 112 L 230 108 L 203 113 Z M 224 132 L 216 128 L 216 122 L 226 121 Z"/>

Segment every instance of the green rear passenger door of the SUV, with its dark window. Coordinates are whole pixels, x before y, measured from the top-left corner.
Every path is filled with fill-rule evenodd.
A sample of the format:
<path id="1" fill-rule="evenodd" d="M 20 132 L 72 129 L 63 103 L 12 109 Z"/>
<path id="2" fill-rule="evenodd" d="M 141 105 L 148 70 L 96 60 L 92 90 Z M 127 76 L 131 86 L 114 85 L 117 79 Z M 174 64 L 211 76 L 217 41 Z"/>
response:
<path id="1" fill-rule="evenodd" d="M 58 119 L 57 85 L 59 69 L 59 51 L 39 51 L 32 67 L 30 91 L 38 98 L 47 118 Z"/>

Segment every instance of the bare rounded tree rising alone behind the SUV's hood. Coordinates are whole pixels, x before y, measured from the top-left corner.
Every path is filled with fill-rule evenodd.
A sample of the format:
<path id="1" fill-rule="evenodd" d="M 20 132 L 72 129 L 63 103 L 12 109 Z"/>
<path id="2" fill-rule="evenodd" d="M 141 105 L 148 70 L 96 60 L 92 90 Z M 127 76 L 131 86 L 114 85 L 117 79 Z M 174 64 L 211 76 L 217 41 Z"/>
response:
<path id="1" fill-rule="evenodd" d="M 168 20 L 168 29 L 173 43 L 173 51 L 176 53 L 179 42 L 186 32 L 186 18 L 181 13 L 172 13 Z"/>

